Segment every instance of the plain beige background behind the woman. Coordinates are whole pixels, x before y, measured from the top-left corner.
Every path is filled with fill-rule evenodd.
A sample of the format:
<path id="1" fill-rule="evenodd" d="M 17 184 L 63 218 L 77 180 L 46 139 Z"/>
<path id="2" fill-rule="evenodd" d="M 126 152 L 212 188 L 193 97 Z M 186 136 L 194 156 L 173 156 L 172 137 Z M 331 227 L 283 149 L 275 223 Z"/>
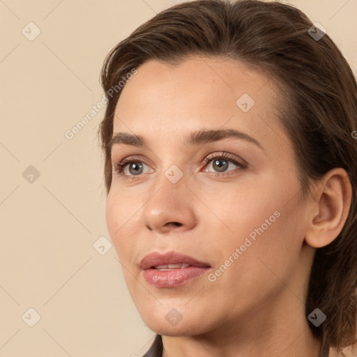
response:
<path id="1" fill-rule="evenodd" d="M 0 0 L 1 357 L 134 357 L 151 344 L 114 248 L 93 248 L 109 239 L 96 139 L 104 109 L 73 139 L 64 133 L 100 101 L 107 52 L 178 2 Z M 357 0 L 290 3 L 357 68 Z M 40 29 L 32 41 L 29 22 Z M 37 179 L 31 168 L 23 176 L 30 165 Z M 33 327 L 29 308 L 40 314 Z"/>

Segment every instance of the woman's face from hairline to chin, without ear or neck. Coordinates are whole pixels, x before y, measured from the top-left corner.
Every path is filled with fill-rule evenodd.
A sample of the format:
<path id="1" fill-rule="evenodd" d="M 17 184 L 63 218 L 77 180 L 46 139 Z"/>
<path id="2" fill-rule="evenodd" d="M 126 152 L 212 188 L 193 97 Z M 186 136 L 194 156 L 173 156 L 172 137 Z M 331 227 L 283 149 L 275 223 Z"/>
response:
<path id="1" fill-rule="evenodd" d="M 114 118 L 114 136 L 133 137 L 112 146 L 114 169 L 132 163 L 113 172 L 106 214 L 142 319 L 162 335 L 294 321 L 314 250 L 272 82 L 231 59 L 137 70 Z M 151 252 L 202 264 L 174 254 L 141 266 Z M 153 268 L 170 262 L 186 264 Z"/>

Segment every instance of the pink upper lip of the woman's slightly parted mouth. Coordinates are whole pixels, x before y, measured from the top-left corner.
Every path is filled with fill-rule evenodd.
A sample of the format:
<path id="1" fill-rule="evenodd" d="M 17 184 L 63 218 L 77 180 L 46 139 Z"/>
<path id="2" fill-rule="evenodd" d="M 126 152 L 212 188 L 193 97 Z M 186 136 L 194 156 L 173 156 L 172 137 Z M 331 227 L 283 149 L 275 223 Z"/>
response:
<path id="1" fill-rule="evenodd" d="M 153 266 L 160 266 L 166 264 L 190 264 L 192 266 L 205 266 L 210 267 L 209 264 L 198 261 L 188 255 L 184 255 L 179 252 L 167 252 L 167 253 L 159 253 L 159 252 L 151 252 L 140 261 L 140 268 L 143 270 L 152 268 Z"/>

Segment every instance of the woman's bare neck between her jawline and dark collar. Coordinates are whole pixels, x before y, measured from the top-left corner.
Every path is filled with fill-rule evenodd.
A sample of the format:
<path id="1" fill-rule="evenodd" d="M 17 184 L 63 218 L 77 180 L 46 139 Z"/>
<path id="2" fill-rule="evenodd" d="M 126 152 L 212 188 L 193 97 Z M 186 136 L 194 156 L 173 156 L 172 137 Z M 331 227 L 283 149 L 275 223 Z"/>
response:
<path id="1" fill-rule="evenodd" d="M 312 336 L 305 305 L 296 297 L 287 305 L 272 301 L 240 319 L 225 319 L 215 331 L 195 335 L 188 326 L 185 336 L 163 335 L 162 357 L 320 357 L 321 341 Z"/>

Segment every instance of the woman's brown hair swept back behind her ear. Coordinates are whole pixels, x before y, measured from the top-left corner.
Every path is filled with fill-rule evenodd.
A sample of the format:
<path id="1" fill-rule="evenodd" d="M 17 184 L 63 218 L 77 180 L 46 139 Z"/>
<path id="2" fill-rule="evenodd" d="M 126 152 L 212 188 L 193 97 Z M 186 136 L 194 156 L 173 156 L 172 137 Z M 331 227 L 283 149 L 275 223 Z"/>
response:
<path id="1" fill-rule="evenodd" d="M 327 319 L 309 322 L 323 349 L 355 342 L 357 288 L 357 85 L 346 59 L 325 34 L 310 36 L 312 22 L 292 6 L 243 0 L 199 0 L 162 11 L 116 45 L 102 67 L 107 93 L 100 138 L 105 185 L 112 181 L 111 150 L 116 103 L 110 91 L 144 61 L 181 63 L 188 56 L 224 56 L 271 76 L 280 96 L 284 129 L 294 145 L 304 195 L 310 183 L 342 167 L 352 186 L 351 208 L 341 233 L 316 251 L 307 286 L 306 317 L 318 307 Z M 317 30 L 314 29 L 314 32 Z M 108 95 L 108 91 L 110 95 Z"/>

